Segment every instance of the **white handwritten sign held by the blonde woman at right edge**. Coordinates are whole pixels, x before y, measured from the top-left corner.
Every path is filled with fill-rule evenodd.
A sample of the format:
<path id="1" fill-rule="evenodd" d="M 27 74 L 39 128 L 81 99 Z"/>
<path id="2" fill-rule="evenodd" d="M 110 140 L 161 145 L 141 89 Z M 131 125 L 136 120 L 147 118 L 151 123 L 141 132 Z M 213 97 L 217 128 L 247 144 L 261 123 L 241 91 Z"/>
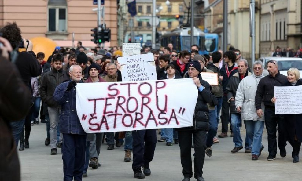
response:
<path id="1" fill-rule="evenodd" d="M 302 114 L 302 85 L 274 87 L 275 114 Z"/>

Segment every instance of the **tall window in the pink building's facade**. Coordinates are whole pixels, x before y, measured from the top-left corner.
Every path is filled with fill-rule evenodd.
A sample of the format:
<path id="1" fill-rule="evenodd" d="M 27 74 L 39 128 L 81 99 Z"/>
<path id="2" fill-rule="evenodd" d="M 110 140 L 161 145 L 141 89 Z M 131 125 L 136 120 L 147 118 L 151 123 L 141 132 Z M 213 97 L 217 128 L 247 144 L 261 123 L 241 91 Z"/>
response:
<path id="1" fill-rule="evenodd" d="M 48 31 L 67 31 L 67 3 L 65 0 L 48 1 Z"/>

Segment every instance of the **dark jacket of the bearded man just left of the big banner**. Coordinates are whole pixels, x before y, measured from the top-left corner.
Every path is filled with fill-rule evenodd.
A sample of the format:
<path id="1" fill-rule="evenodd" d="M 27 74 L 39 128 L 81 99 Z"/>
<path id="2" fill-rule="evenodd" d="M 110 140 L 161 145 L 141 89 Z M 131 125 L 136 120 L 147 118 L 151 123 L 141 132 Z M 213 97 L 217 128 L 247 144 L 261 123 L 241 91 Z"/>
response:
<path id="1" fill-rule="evenodd" d="M 40 96 L 43 102 L 45 102 L 49 107 L 59 107 L 57 102 L 53 99 L 53 92 L 58 85 L 62 82 L 68 81 L 69 78 L 66 74 L 66 71 L 63 69 L 46 72 L 41 81 L 40 86 Z"/>

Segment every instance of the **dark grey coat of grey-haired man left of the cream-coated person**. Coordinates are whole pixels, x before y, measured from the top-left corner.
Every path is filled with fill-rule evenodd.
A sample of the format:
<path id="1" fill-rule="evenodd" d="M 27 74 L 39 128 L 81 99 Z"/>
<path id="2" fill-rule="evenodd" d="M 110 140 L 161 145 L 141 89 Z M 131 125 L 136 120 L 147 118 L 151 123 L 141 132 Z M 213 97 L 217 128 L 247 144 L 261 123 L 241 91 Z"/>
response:
<path id="1" fill-rule="evenodd" d="M 249 75 L 252 75 L 251 72 L 249 71 L 246 71 L 245 73 L 245 77 L 249 76 Z M 231 78 L 230 78 L 230 81 L 227 85 L 227 88 L 226 88 L 226 93 L 227 93 L 227 102 L 230 103 L 230 112 L 231 113 L 238 113 L 238 111 L 236 110 L 236 106 L 235 106 L 235 101 L 231 99 L 234 98 L 235 99 L 235 96 L 236 96 L 236 92 L 237 92 L 237 89 L 238 89 L 238 85 L 240 83 L 240 75 L 239 73 L 235 73 Z"/>

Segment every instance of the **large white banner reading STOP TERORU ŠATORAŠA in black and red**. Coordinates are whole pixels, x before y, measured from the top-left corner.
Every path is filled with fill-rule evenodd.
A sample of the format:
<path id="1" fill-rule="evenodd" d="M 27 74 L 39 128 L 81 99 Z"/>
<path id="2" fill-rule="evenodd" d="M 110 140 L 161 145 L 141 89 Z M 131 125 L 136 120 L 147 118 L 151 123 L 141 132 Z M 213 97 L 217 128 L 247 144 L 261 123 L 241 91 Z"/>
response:
<path id="1" fill-rule="evenodd" d="M 196 102 L 192 78 L 76 85 L 76 110 L 87 133 L 193 126 Z"/>

